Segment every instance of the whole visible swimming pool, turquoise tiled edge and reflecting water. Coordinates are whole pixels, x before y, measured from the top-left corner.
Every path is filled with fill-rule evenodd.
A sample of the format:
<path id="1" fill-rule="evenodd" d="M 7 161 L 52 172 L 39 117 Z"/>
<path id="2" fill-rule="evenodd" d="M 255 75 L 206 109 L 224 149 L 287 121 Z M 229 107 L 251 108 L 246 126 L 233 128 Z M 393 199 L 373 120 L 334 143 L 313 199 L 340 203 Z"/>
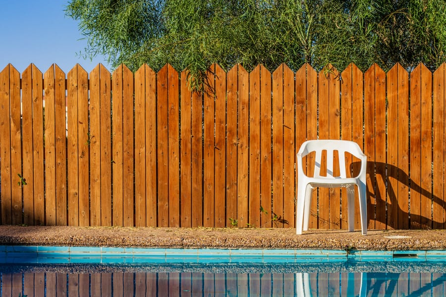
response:
<path id="1" fill-rule="evenodd" d="M 0 262 L 1 296 L 446 294 L 443 251 L 4 246 Z"/>

